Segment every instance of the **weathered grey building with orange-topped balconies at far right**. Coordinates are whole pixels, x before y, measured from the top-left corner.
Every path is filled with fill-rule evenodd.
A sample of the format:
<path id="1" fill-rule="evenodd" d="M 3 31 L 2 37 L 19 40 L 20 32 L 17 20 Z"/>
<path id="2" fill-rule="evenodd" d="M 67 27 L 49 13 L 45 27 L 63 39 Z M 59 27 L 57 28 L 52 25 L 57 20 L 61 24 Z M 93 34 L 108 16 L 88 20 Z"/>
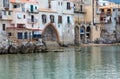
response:
<path id="1" fill-rule="evenodd" d="M 99 8 L 101 11 L 101 38 L 111 41 L 119 41 L 120 38 L 120 11 L 115 6 L 103 6 Z"/>

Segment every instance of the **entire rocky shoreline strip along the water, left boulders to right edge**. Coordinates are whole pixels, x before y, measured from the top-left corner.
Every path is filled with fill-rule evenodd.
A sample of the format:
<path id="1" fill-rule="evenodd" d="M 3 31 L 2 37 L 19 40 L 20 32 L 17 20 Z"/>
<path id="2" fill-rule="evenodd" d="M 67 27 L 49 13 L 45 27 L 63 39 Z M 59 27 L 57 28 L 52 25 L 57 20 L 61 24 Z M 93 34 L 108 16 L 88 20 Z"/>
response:
<path id="1" fill-rule="evenodd" d="M 28 53 L 46 53 L 46 52 L 63 52 L 65 47 L 75 47 L 75 46 L 55 46 L 46 45 L 45 42 L 26 42 L 18 44 L 8 44 L 0 46 L 0 54 L 28 54 Z M 80 44 L 81 47 L 85 46 L 118 46 L 120 43 L 114 44 Z M 79 47 L 79 46 L 78 46 Z"/>

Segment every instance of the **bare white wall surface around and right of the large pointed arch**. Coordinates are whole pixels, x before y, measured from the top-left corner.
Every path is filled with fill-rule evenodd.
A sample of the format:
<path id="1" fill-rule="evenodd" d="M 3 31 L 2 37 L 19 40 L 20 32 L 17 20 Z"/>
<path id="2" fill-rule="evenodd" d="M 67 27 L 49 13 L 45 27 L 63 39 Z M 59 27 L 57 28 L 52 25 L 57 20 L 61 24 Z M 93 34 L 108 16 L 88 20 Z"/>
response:
<path id="1" fill-rule="evenodd" d="M 61 5 L 62 3 L 62 5 Z M 51 10 L 57 11 L 54 12 L 40 12 L 39 13 L 39 27 L 44 30 L 45 26 L 50 23 L 50 15 L 55 16 L 54 26 L 57 28 L 57 31 L 60 36 L 60 41 L 64 42 L 64 44 L 74 43 L 74 8 L 73 3 L 70 2 L 71 9 L 67 10 L 67 1 L 52 1 L 51 2 Z M 42 23 L 42 14 L 47 15 L 47 23 Z M 62 16 L 62 23 L 58 24 L 58 15 Z M 70 17 L 70 24 L 67 23 L 67 17 Z"/>

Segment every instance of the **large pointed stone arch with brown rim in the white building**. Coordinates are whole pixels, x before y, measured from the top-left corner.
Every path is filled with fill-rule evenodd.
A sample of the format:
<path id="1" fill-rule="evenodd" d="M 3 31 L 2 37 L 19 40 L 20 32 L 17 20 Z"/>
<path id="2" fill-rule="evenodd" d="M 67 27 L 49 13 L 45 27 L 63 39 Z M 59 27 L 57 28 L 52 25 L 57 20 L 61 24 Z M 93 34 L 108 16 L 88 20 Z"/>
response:
<path id="1" fill-rule="evenodd" d="M 44 41 L 57 41 L 59 42 L 59 35 L 57 29 L 54 27 L 53 24 L 48 24 L 43 33 L 42 38 Z"/>

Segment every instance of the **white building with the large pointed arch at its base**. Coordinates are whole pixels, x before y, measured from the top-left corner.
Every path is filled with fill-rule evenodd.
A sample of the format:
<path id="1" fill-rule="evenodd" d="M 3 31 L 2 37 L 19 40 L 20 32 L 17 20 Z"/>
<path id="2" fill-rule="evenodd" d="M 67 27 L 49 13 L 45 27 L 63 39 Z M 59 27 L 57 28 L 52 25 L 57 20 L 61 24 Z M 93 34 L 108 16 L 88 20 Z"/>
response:
<path id="1" fill-rule="evenodd" d="M 74 44 L 73 3 L 56 0 L 49 2 L 48 7 L 45 6 L 39 9 L 39 27 L 43 30 L 43 40 Z"/>

